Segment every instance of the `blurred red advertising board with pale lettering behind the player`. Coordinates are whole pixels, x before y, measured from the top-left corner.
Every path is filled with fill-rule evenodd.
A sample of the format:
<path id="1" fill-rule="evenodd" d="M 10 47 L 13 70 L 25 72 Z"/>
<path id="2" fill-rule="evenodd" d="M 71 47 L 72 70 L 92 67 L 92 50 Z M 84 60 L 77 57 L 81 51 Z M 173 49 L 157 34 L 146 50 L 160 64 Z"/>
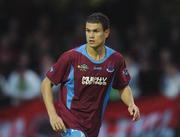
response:
<path id="1" fill-rule="evenodd" d="M 162 96 L 136 101 L 141 119 L 132 122 L 127 107 L 120 101 L 107 107 L 99 137 L 173 137 L 177 126 L 179 99 Z M 55 137 L 41 99 L 0 111 L 0 137 Z"/>

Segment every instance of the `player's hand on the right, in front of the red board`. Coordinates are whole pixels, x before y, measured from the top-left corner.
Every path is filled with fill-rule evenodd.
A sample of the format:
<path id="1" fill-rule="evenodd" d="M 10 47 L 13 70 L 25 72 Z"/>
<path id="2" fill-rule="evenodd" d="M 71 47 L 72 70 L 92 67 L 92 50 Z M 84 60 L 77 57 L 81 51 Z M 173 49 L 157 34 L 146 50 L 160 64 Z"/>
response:
<path id="1" fill-rule="evenodd" d="M 133 119 L 132 119 L 133 121 L 137 121 L 140 119 L 139 108 L 135 104 L 129 105 L 128 111 L 130 115 L 133 116 Z"/>

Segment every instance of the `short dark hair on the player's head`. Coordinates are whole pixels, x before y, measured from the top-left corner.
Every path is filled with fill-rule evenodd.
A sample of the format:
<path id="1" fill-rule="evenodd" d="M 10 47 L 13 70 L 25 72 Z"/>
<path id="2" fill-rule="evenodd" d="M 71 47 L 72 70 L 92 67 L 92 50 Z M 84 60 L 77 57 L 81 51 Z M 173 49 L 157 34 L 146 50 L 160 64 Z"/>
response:
<path id="1" fill-rule="evenodd" d="M 91 14 L 90 16 L 88 16 L 88 18 L 86 19 L 86 22 L 101 23 L 104 30 L 110 28 L 109 18 L 105 14 L 100 13 L 100 12 L 95 12 L 95 13 Z"/>

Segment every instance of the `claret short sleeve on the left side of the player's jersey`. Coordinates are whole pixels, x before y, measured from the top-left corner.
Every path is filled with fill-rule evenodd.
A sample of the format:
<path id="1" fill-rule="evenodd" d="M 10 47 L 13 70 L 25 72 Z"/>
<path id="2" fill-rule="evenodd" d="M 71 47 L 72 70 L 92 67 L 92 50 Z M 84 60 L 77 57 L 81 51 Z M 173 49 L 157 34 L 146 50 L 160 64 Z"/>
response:
<path id="1" fill-rule="evenodd" d="M 62 54 L 57 62 L 51 66 L 46 76 L 55 85 L 67 81 L 68 73 L 71 66 L 71 56 L 69 52 Z"/>

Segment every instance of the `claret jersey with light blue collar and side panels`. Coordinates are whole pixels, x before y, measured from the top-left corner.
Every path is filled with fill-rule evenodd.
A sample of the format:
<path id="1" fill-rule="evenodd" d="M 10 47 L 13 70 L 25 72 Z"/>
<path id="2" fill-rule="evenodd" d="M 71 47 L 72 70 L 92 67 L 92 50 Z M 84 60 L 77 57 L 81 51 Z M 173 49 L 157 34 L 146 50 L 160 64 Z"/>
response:
<path id="1" fill-rule="evenodd" d="M 105 46 L 102 60 L 93 60 L 86 44 L 62 54 L 47 72 L 54 84 L 61 84 L 58 114 L 66 128 L 97 137 L 112 88 L 128 85 L 130 76 L 124 58 Z"/>

